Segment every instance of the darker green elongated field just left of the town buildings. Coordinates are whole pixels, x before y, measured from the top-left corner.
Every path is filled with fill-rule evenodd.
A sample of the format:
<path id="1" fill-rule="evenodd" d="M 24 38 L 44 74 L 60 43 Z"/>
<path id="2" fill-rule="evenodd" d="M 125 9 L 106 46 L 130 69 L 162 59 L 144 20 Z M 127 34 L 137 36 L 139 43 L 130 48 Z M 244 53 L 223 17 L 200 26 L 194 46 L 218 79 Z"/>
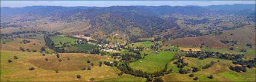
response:
<path id="1" fill-rule="evenodd" d="M 69 47 L 65 47 L 67 51 L 85 51 L 85 50 L 92 50 L 93 48 L 99 48 L 97 45 L 92 44 L 80 44 L 80 45 L 73 45 Z"/>

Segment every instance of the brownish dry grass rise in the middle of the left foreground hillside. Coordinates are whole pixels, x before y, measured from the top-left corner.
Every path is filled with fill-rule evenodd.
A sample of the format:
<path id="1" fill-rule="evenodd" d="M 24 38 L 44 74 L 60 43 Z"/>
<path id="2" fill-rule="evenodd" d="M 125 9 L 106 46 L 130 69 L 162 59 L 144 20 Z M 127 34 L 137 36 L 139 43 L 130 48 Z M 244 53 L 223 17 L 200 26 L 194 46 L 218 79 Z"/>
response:
<path id="1" fill-rule="evenodd" d="M 48 61 L 46 61 L 45 58 L 48 58 Z M 67 60 L 67 58 L 70 60 Z M 58 59 L 61 59 L 61 62 L 59 62 Z M 90 63 L 87 63 L 87 60 L 90 60 L 90 63 L 94 63 L 94 66 L 91 66 Z M 93 69 L 95 66 L 99 65 L 99 61 L 104 62 L 104 60 L 109 61 L 107 56 L 79 53 L 61 53 L 60 58 L 57 58 L 56 55 L 42 56 L 37 59 L 29 59 L 28 62 L 39 68 L 52 71 L 79 71 L 82 67 L 87 68 L 87 66 L 90 66 Z"/>

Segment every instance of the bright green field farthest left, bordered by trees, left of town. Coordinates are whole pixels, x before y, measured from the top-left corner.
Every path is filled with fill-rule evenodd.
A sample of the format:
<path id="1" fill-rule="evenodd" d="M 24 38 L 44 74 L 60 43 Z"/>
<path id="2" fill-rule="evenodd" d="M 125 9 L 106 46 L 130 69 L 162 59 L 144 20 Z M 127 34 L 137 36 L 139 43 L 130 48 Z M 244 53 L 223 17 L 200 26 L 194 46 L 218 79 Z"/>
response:
<path id="1" fill-rule="evenodd" d="M 54 41 L 55 47 L 61 47 L 63 43 L 67 43 L 67 45 L 75 44 L 75 39 L 64 37 L 63 35 L 57 35 L 54 37 L 50 37 L 52 41 Z M 62 44 L 60 44 L 62 42 Z"/>

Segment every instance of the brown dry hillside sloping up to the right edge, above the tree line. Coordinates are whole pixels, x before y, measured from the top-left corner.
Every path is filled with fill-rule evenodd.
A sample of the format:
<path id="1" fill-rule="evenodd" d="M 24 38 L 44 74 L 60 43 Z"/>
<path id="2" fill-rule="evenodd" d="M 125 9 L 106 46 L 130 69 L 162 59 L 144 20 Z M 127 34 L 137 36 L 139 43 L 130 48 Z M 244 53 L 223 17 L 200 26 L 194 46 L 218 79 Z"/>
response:
<path id="1" fill-rule="evenodd" d="M 198 48 L 202 45 L 203 51 L 220 51 L 222 53 L 242 53 L 249 57 L 255 57 L 255 26 L 244 26 L 242 28 L 223 31 L 218 34 L 204 35 L 201 37 L 178 38 L 175 40 L 165 41 L 166 45 L 178 45 L 179 47 Z M 229 41 L 224 44 L 222 41 Z M 234 44 L 231 41 L 236 41 Z M 252 48 L 246 46 L 247 43 L 252 44 Z M 233 47 L 234 50 L 229 50 Z M 246 49 L 247 52 L 240 52 Z"/>

